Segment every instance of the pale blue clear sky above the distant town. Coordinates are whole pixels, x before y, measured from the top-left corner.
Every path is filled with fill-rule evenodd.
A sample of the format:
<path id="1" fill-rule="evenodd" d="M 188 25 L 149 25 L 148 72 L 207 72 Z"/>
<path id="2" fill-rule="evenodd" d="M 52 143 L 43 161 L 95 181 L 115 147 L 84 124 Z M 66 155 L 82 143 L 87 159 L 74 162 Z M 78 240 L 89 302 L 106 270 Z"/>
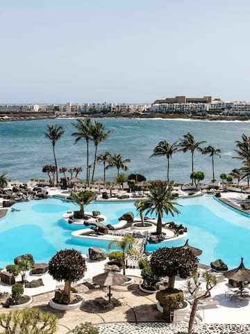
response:
<path id="1" fill-rule="evenodd" d="M 0 103 L 250 100 L 249 0 L 1 0 Z"/>

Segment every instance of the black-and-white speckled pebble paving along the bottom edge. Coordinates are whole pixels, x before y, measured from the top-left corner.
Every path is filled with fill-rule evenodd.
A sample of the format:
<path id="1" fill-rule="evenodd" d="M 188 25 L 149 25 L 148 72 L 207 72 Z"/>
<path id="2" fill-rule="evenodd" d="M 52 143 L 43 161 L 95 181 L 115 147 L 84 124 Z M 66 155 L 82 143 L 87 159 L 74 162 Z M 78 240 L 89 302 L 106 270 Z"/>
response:
<path id="1" fill-rule="evenodd" d="M 99 324 L 99 334 L 186 334 L 188 324 L 165 324 L 161 322 Z M 246 324 L 194 325 L 194 334 L 250 334 Z"/>

